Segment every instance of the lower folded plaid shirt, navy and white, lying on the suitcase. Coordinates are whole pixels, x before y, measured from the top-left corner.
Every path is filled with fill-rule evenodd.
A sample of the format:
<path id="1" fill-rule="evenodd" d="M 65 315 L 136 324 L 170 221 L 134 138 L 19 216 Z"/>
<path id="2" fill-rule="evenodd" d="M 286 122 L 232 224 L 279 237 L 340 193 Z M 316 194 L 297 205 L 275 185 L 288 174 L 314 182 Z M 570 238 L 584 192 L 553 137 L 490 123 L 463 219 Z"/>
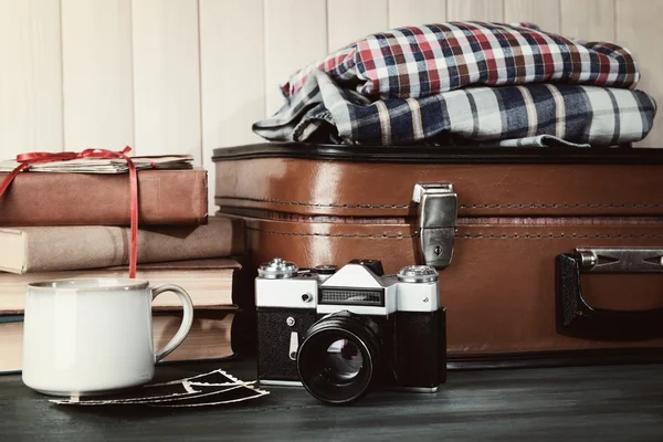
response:
<path id="1" fill-rule="evenodd" d="M 612 146 L 644 138 L 655 113 L 654 99 L 644 92 L 570 84 L 470 87 L 373 101 L 315 71 L 253 130 L 274 141 Z"/>

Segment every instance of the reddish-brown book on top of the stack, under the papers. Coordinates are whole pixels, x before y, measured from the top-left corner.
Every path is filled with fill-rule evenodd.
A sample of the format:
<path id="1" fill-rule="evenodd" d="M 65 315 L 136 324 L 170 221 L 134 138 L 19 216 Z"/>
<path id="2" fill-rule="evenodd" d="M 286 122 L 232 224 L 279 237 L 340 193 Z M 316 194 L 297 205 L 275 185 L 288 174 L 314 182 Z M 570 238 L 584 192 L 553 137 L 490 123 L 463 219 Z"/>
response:
<path id="1" fill-rule="evenodd" d="M 129 196 L 127 173 L 21 172 L 0 198 L 0 225 L 129 225 Z M 138 171 L 138 200 L 140 225 L 202 224 L 207 170 Z"/>

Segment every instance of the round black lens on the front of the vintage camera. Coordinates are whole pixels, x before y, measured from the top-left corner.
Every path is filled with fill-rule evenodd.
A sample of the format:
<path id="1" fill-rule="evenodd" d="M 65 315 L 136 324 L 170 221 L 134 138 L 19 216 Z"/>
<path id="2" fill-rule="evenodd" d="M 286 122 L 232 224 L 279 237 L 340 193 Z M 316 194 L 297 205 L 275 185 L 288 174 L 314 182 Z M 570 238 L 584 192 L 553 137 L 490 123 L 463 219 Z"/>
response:
<path id="1" fill-rule="evenodd" d="M 343 311 L 325 316 L 306 332 L 297 369 L 311 394 L 340 404 L 366 394 L 379 359 L 378 326 L 368 317 Z"/>

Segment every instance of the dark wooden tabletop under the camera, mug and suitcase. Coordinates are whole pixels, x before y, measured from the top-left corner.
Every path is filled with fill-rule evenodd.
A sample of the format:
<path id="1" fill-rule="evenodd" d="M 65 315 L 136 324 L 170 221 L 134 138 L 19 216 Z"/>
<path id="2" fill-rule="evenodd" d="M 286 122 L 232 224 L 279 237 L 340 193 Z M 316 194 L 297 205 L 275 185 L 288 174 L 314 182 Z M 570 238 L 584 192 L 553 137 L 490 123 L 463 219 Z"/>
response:
<path id="1" fill-rule="evenodd" d="M 252 361 L 158 367 L 159 377 Z M 453 371 L 435 394 L 372 392 L 327 407 L 301 388 L 242 406 L 66 408 L 0 377 L 0 441 L 663 441 L 663 365 Z"/>

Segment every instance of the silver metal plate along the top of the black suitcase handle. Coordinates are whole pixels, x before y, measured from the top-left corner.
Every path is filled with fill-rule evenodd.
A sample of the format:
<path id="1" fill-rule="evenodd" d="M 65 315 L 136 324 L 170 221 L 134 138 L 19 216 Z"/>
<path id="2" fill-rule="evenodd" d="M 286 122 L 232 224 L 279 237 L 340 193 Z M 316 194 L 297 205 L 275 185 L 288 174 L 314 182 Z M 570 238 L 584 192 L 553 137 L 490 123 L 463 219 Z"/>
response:
<path id="1" fill-rule="evenodd" d="M 580 270 L 586 273 L 661 273 L 663 249 L 578 248 Z"/>

